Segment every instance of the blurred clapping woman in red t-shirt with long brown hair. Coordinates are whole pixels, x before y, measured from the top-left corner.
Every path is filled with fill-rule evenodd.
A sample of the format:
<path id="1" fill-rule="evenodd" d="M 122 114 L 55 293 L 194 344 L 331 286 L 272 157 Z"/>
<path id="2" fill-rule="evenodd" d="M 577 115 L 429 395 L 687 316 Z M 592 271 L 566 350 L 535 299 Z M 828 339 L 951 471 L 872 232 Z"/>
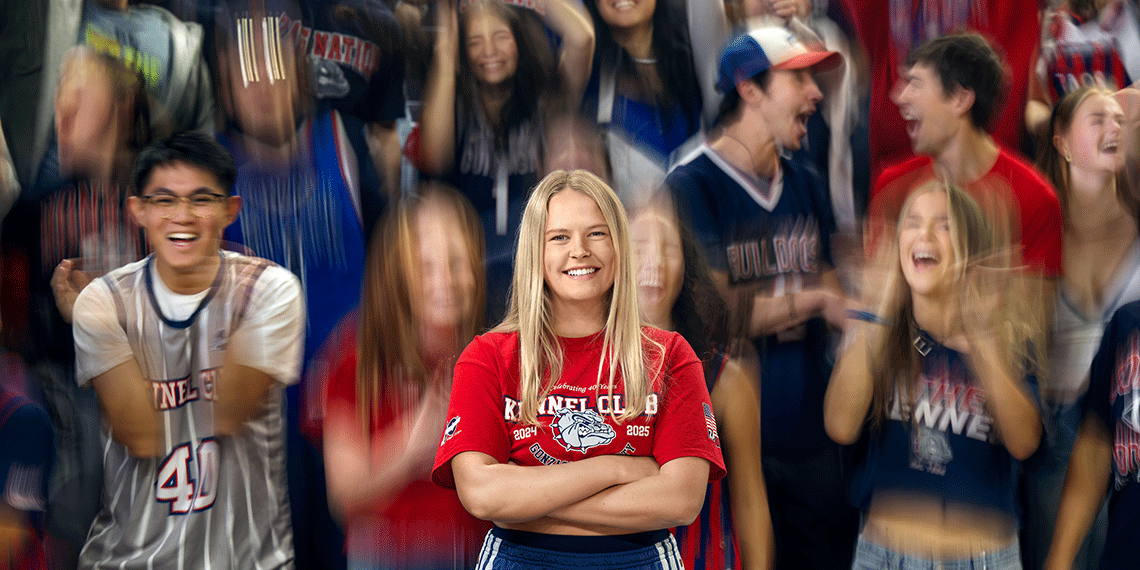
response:
<path id="1" fill-rule="evenodd" d="M 471 568 L 488 524 L 429 480 L 456 355 L 482 326 L 482 229 L 458 192 L 426 187 L 385 219 L 359 326 L 326 392 L 328 499 L 350 568 Z"/>

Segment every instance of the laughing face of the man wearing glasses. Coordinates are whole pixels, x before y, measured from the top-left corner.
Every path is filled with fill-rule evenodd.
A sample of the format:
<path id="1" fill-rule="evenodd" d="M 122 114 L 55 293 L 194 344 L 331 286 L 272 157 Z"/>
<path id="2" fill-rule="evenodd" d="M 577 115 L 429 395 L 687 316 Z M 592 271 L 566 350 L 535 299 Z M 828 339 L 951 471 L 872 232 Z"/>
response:
<path id="1" fill-rule="evenodd" d="M 172 212 L 162 213 L 147 196 L 192 197 L 198 194 L 227 196 L 209 209 L 195 210 L 180 201 Z M 155 253 L 155 268 L 168 287 L 178 293 L 202 291 L 213 279 L 221 246 L 221 233 L 237 217 L 241 198 L 229 196 L 210 172 L 182 162 L 155 166 L 141 196 L 131 196 L 128 206 L 142 227 Z M 189 291 L 196 290 L 196 291 Z"/>

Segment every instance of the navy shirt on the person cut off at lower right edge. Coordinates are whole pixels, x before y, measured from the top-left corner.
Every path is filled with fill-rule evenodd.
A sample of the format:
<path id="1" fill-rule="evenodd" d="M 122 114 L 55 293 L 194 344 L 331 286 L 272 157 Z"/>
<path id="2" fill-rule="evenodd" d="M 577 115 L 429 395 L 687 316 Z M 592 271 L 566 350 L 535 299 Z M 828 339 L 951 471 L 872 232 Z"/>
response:
<path id="1" fill-rule="evenodd" d="M 1101 569 L 1135 568 L 1140 544 L 1140 301 L 1121 307 L 1105 329 L 1081 405 L 1113 434 L 1113 488 Z"/>

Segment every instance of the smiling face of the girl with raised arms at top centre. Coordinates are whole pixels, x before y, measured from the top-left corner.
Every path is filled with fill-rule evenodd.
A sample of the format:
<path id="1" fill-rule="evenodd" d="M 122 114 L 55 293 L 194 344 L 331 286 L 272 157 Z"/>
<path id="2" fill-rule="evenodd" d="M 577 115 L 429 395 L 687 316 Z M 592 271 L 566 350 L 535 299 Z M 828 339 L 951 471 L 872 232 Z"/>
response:
<path id="1" fill-rule="evenodd" d="M 464 43 L 475 80 L 499 85 L 519 68 L 519 47 L 511 25 L 489 8 L 473 7 L 466 16 Z"/>

